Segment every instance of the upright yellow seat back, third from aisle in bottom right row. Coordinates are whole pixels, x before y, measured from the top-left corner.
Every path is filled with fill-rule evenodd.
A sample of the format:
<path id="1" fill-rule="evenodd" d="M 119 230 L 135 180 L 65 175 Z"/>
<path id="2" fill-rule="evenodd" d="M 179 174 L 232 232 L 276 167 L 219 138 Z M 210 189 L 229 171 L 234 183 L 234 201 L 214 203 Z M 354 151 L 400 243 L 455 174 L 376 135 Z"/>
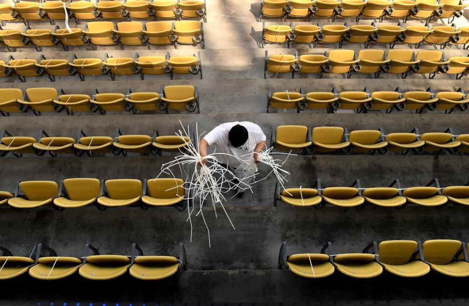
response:
<path id="1" fill-rule="evenodd" d="M 399 265 L 409 262 L 416 249 L 416 241 L 387 240 L 378 245 L 378 254 L 380 262 Z"/>

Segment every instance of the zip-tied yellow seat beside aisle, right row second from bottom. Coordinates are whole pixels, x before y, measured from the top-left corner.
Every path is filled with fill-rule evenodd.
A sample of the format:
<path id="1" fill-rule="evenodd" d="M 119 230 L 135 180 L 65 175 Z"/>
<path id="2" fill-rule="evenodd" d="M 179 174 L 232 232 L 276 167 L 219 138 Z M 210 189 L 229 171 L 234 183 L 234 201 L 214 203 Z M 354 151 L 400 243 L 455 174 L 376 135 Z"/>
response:
<path id="1" fill-rule="evenodd" d="M 320 182 L 319 182 L 320 184 Z M 274 206 L 277 205 L 277 200 L 281 200 L 290 205 L 294 206 L 301 206 L 301 207 L 309 207 L 313 206 L 316 209 L 320 209 L 322 207 L 321 202 L 322 198 L 319 196 L 318 189 L 320 189 L 320 185 L 318 186 L 318 181 L 313 186 L 313 188 L 286 188 L 282 190 L 282 186 L 280 182 L 277 180 L 277 184 L 275 186 L 274 191 Z"/>

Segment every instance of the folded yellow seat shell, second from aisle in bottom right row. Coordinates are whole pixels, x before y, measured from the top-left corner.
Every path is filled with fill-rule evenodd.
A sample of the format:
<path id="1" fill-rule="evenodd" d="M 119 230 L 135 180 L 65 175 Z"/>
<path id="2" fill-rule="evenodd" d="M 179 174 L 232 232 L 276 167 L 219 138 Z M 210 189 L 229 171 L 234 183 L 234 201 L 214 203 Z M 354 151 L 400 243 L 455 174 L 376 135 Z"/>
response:
<path id="1" fill-rule="evenodd" d="M 373 254 L 340 254 L 334 257 L 334 263 L 338 271 L 354 278 L 372 278 L 383 273 Z"/>

